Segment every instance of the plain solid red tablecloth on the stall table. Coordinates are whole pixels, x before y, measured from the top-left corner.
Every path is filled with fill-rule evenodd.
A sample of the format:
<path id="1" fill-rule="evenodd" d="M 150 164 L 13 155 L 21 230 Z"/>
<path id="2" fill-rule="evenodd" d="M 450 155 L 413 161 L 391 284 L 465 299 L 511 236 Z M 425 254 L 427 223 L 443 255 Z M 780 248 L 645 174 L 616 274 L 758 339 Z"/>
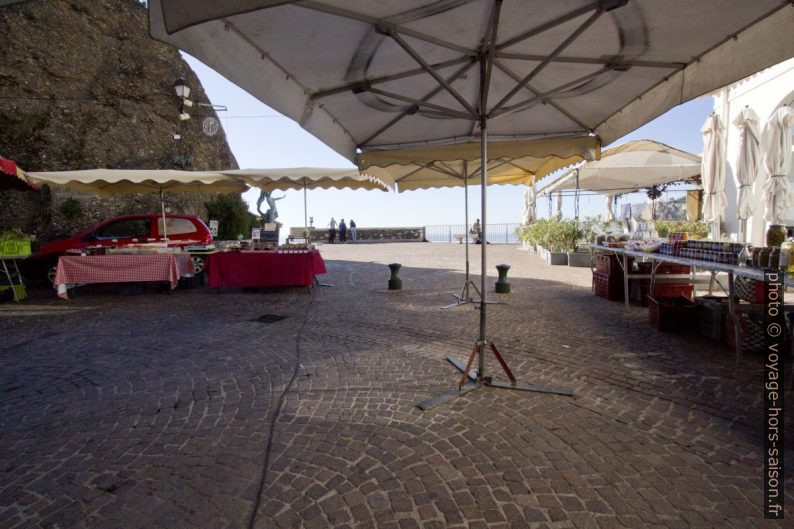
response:
<path id="1" fill-rule="evenodd" d="M 320 252 L 218 252 L 209 255 L 207 279 L 212 288 L 309 286 L 325 273 Z"/>

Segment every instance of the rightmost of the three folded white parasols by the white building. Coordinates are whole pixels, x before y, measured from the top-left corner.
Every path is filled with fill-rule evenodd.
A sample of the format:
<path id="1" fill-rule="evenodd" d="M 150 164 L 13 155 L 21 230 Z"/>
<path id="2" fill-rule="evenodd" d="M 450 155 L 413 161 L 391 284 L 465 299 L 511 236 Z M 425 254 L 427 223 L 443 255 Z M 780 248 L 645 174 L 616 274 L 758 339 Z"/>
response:
<path id="1" fill-rule="evenodd" d="M 791 129 L 794 109 L 777 109 L 764 127 L 761 149 L 769 179 L 764 183 L 764 220 L 779 224 L 791 207 L 788 173 L 791 170 Z"/>

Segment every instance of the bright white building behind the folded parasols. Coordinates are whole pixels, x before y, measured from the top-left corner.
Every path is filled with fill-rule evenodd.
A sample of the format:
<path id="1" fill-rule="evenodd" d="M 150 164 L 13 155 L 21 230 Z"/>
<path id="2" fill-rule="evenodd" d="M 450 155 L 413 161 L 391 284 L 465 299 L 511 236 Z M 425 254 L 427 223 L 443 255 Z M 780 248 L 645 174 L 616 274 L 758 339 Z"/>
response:
<path id="1" fill-rule="evenodd" d="M 794 59 L 762 70 L 750 77 L 742 79 L 711 94 L 714 96 L 714 112 L 719 115 L 724 127 L 723 145 L 725 145 L 726 175 L 725 194 L 728 203 L 725 208 L 725 231 L 737 234 L 739 240 L 744 236 L 739 233 L 737 217 L 736 163 L 739 155 L 739 129 L 733 124 L 736 116 L 745 106 L 755 111 L 759 119 L 759 132 L 763 134 L 766 123 L 772 113 L 784 105 L 794 106 Z M 762 154 L 763 156 L 763 154 Z M 763 185 L 769 175 L 761 163 L 753 185 L 753 216 L 747 221 L 746 239 L 754 246 L 763 246 L 768 223 L 764 221 Z M 794 168 L 788 173 L 789 187 L 794 190 Z M 784 223 L 794 226 L 794 208 L 784 219 Z"/>

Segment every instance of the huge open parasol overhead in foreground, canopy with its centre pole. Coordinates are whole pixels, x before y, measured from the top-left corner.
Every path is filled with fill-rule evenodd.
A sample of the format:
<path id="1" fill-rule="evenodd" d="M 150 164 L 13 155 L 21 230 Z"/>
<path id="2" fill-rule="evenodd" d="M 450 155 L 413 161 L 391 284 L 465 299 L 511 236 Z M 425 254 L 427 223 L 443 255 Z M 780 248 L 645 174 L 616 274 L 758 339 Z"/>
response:
<path id="1" fill-rule="evenodd" d="M 148 5 L 154 38 L 198 58 L 351 161 L 358 152 L 452 150 L 473 141 L 483 160 L 492 158 L 493 140 L 592 137 L 609 144 L 677 104 L 794 54 L 794 10 L 784 0 L 736 1 L 730 9 L 724 0 Z M 484 170 L 483 231 L 487 182 Z M 486 245 L 481 254 L 485 270 Z M 484 295 L 485 274 L 482 281 Z M 486 376 L 482 358 L 493 347 L 486 319 L 483 303 L 476 387 L 528 389 Z"/>

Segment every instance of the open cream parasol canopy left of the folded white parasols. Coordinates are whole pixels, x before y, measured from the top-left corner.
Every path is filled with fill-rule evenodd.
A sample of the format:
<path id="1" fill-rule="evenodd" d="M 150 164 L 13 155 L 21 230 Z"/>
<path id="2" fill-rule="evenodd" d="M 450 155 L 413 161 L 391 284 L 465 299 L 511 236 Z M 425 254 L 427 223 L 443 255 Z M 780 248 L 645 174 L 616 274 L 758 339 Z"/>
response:
<path id="1" fill-rule="evenodd" d="M 619 195 L 700 175 L 700 156 L 652 140 L 636 140 L 607 149 L 546 184 L 542 193 L 579 189 Z"/>

